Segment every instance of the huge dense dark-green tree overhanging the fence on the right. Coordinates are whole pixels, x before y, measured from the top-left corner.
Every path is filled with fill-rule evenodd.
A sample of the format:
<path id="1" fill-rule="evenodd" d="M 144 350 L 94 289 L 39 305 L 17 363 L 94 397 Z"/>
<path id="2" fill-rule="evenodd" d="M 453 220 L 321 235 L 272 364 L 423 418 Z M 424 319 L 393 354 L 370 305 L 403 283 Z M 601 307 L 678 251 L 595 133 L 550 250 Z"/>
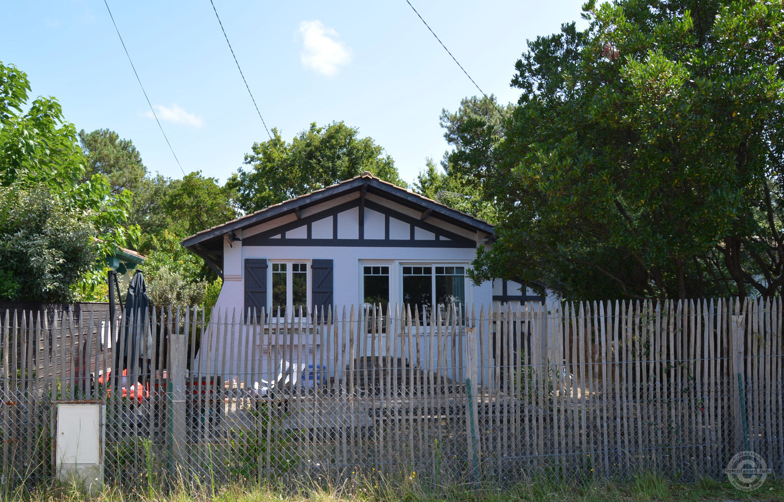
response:
<path id="1" fill-rule="evenodd" d="M 529 42 L 504 139 L 467 163 L 503 221 L 475 277 L 572 298 L 780 294 L 780 5 L 585 9 L 586 31 Z"/>

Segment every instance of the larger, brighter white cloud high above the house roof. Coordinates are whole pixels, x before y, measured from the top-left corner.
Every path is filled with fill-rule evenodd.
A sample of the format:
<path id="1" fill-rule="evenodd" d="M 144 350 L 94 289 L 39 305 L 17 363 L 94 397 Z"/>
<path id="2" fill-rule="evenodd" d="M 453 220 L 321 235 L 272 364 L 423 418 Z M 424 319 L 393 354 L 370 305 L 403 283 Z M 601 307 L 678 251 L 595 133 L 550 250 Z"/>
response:
<path id="1" fill-rule="evenodd" d="M 302 36 L 303 48 L 299 56 L 304 67 L 332 76 L 351 60 L 351 49 L 339 40 L 338 32 L 325 27 L 321 21 L 303 21 L 297 33 Z"/>

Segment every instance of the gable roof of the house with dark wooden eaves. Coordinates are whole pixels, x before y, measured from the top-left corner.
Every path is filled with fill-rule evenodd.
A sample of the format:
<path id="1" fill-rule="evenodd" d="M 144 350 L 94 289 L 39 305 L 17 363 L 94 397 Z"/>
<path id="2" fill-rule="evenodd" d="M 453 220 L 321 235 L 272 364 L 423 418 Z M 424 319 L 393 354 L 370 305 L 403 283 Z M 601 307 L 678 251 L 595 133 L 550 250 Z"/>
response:
<path id="1" fill-rule="evenodd" d="M 222 225 L 200 231 L 197 234 L 185 238 L 182 245 L 187 249 L 191 249 L 191 251 L 197 253 L 199 256 L 204 257 L 205 260 L 208 260 L 208 263 L 210 258 L 212 258 L 212 261 L 218 261 L 217 258 L 223 255 L 223 235 L 226 235 L 229 232 L 253 227 L 267 220 L 284 216 L 285 214 L 298 213 L 308 206 L 314 206 L 353 191 L 366 191 L 368 193 L 381 195 L 403 206 L 418 209 L 423 213 L 429 212 L 428 214 L 432 216 L 438 216 L 442 220 L 446 220 L 451 224 L 466 228 L 470 231 L 480 231 L 487 235 L 494 235 L 495 233 L 492 224 L 488 224 L 488 222 L 484 220 L 474 218 L 474 216 L 470 216 L 466 213 L 461 213 L 456 209 L 452 209 L 449 206 L 445 206 L 440 202 L 423 197 L 422 195 L 415 194 L 405 188 L 397 187 L 396 185 L 381 180 L 376 176 L 372 176 L 371 173 L 365 171 L 365 173 L 355 176 L 350 180 L 341 181 L 338 184 L 291 198 L 288 201 L 274 204 L 265 209 L 260 209 L 255 213 L 241 216 L 236 220 L 227 221 Z"/>

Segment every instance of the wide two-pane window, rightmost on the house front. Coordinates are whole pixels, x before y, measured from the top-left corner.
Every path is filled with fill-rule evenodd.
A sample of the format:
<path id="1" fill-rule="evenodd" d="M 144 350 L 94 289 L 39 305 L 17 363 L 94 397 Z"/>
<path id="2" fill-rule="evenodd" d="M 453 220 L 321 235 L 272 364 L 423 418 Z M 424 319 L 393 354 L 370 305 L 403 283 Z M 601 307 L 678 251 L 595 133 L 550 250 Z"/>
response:
<path id="1" fill-rule="evenodd" d="M 430 315 L 430 307 L 437 305 L 441 311 L 455 305 L 462 308 L 466 302 L 465 267 L 403 267 L 403 303 L 419 307 Z"/>

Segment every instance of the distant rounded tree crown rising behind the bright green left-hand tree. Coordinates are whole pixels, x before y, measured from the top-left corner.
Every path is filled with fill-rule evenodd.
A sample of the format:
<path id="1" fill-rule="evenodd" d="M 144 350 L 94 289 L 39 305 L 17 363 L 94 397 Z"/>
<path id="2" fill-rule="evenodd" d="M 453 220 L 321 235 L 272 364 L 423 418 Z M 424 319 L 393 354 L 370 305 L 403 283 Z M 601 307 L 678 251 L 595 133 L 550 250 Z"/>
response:
<path id="1" fill-rule="evenodd" d="M 118 133 L 110 129 L 96 129 L 92 133 L 82 129 L 79 143 L 85 155 L 85 180 L 100 173 L 107 177 L 114 194 L 139 190 L 147 168 L 131 140 L 120 139 Z"/>

